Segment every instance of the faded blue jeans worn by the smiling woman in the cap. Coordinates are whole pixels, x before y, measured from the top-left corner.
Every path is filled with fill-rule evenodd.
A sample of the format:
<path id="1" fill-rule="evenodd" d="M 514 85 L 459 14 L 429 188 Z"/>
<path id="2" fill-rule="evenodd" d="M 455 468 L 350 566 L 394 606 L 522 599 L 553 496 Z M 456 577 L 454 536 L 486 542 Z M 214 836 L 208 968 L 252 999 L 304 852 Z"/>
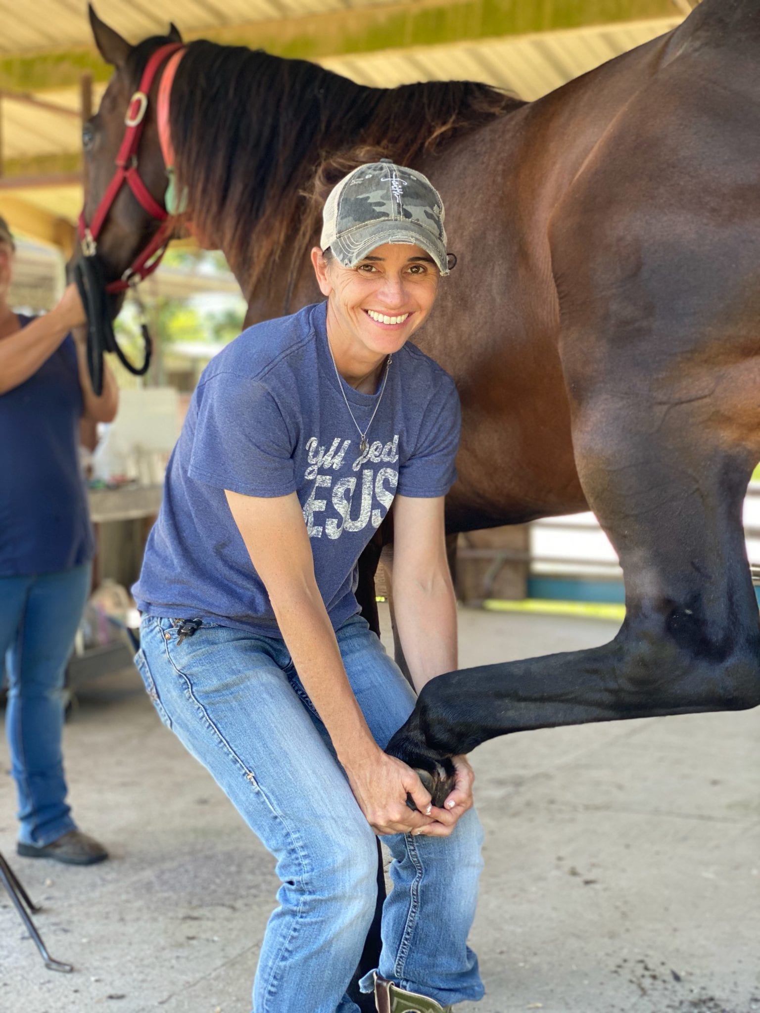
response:
<path id="1" fill-rule="evenodd" d="M 186 617 L 191 618 L 191 617 Z M 356 1013 L 346 995 L 377 899 L 375 836 L 335 759 L 283 640 L 145 617 L 136 664 L 161 720 L 210 771 L 277 858 L 280 906 L 267 926 L 254 1013 Z M 355 616 L 337 630 L 365 718 L 384 747 L 414 695 Z M 393 889 L 380 973 L 442 1005 L 480 999 L 467 947 L 481 868 L 474 810 L 449 838 L 385 837 Z M 362 988 L 372 990 L 372 976 Z"/>

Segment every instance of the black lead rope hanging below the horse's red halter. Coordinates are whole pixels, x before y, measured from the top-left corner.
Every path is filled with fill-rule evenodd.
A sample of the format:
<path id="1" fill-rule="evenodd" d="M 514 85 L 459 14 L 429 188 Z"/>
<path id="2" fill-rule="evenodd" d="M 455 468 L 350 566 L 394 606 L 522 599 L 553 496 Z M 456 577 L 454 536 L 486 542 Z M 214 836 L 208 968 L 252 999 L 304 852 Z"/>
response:
<path id="1" fill-rule="evenodd" d="M 153 342 L 147 325 L 142 322 L 140 329 L 145 345 L 145 358 L 142 366 L 134 366 L 122 352 L 113 333 L 110 303 L 105 291 L 106 281 L 100 257 L 97 253 L 92 256 L 80 256 L 75 260 L 73 270 L 74 282 L 87 314 L 87 368 L 92 390 L 95 396 L 99 397 L 103 391 L 103 354 L 116 353 L 125 369 L 136 377 L 141 377 L 148 372 Z"/>

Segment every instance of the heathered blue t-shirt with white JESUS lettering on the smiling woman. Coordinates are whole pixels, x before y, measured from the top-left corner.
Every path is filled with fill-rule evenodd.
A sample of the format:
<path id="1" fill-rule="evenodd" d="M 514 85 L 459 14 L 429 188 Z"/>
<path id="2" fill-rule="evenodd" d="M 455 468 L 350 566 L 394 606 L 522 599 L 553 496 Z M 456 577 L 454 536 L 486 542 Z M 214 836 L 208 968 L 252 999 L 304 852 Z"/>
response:
<path id="1" fill-rule="evenodd" d="M 320 303 L 249 327 L 204 370 L 133 588 L 141 611 L 281 636 L 224 490 L 296 492 L 337 628 L 359 611 L 357 561 L 394 493 L 448 491 L 459 443 L 454 381 L 407 342 L 378 406 L 379 392 L 338 381 L 325 317 Z M 377 407 L 361 456 L 341 386 L 363 432 Z"/>

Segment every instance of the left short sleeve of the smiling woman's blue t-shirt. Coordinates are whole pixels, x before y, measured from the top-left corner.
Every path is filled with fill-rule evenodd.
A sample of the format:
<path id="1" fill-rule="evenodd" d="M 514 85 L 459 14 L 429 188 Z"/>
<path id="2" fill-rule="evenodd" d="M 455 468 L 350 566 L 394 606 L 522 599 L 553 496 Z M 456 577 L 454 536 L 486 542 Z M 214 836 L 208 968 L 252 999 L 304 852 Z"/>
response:
<path id="1" fill-rule="evenodd" d="M 246 496 L 294 492 L 293 442 L 270 389 L 220 373 L 199 394 L 189 477 Z"/>

